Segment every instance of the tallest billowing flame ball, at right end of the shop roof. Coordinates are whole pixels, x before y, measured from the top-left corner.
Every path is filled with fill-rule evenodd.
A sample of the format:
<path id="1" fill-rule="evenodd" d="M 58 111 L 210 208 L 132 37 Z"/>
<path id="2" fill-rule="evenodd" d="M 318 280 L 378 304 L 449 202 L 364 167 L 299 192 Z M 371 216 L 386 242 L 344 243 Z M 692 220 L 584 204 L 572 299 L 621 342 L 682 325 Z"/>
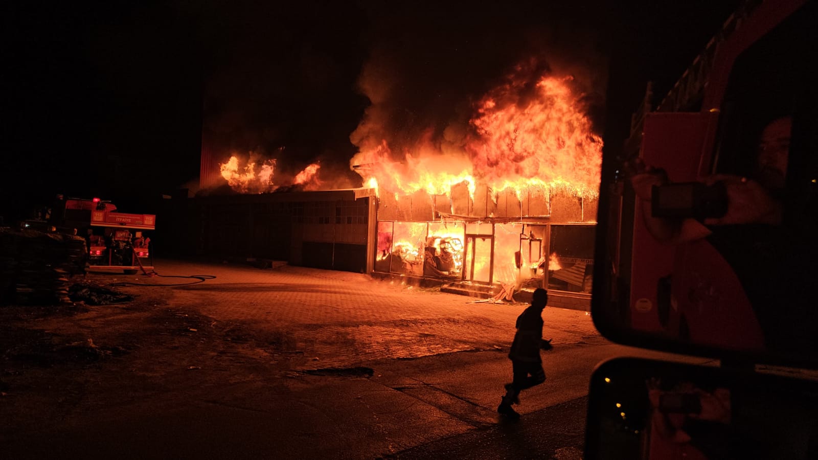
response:
<path id="1" fill-rule="evenodd" d="M 577 196 L 596 196 L 602 140 L 592 133 L 570 77 L 544 76 L 533 90 L 511 79 L 480 103 L 471 120 L 474 174 L 495 191 L 566 187 Z M 525 97 L 524 97 L 525 96 Z"/>

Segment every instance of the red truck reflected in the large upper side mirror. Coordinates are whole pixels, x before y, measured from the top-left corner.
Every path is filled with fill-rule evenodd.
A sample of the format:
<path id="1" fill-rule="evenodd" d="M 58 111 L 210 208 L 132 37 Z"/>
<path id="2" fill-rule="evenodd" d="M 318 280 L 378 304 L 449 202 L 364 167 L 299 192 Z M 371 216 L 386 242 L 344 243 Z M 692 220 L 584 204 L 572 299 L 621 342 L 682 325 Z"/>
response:
<path id="1" fill-rule="evenodd" d="M 645 340 L 775 353 L 770 331 L 814 316 L 802 307 L 814 300 L 798 295 L 814 273 L 804 262 L 816 252 L 816 81 L 807 68 L 816 56 L 816 10 L 802 0 L 746 2 L 658 106 L 648 86 L 622 156 L 604 170 L 609 198 L 600 202 L 600 228 L 607 230 L 597 244 L 605 256 L 599 269 L 610 280 L 600 295 L 616 306 L 610 320 L 645 332 Z M 676 223 L 724 215 L 728 196 L 710 187 L 723 184 L 708 178 L 752 184 L 758 139 L 782 116 L 792 120 L 784 217 L 778 228 L 762 229 L 775 241 L 757 245 L 756 224 L 710 225 L 707 237 L 658 241 L 645 223 L 651 213 Z M 644 207 L 628 179 L 634 163 L 685 187 L 663 194 L 654 187 Z"/>

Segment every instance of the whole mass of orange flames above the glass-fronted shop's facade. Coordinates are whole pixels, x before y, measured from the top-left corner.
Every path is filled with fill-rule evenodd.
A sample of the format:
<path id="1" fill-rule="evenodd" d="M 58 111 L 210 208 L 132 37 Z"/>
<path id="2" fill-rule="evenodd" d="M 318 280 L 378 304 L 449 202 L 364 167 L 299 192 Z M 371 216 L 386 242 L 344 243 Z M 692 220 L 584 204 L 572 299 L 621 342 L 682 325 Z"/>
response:
<path id="1" fill-rule="evenodd" d="M 570 77 L 537 75 L 531 83 L 529 70 L 519 65 L 479 100 L 469 121 L 472 133 L 460 142 L 448 129 L 443 141 L 425 136 L 409 151 L 392 151 L 385 139 L 374 147 L 362 142 L 353 169 L 396 198 L 419 190 L 449 195 L 461 183 L 472 198 L 478 183 L 495 198 L 506 189 L 519 197 L 528 187 L 596 197 L 602 140 L 584 113 L 582 94 Z"/>

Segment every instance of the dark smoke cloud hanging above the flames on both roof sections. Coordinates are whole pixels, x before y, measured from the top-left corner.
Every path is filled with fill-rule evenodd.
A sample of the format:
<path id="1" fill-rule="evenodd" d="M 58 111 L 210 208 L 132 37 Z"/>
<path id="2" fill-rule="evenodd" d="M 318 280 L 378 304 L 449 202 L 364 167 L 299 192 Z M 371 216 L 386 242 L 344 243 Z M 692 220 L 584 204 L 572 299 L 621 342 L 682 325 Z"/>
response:
<path id="1" fill-rule="evenodd" d="M 331 171 L 357 186 L 348 163 L 359 147 L 386 140 L 402 155 L 427 139 L 445 151 L 467 133 L 474 101 L 532 57 L 543 71 L 573 74 L 591 115 L 603 104 L 605 50 L 598 25 L 576 5 L 230 8 L 226 22 L 218 8 L 206 21 L 214 52 L 203 142 L 224 156 L 268 152 L 282 173 L 321 160 L 325 181 Z"/>

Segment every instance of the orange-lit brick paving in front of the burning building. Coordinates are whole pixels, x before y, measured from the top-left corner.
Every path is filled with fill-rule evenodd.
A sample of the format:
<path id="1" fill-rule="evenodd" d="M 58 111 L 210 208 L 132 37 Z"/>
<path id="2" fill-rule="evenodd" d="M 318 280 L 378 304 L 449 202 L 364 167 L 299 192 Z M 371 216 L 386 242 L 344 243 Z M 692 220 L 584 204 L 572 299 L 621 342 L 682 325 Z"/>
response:
<path id="1" fill-rule="evenodd" d="M 157 260 L 164 277 L 117 277 L 168 295 L 170 304 L 195 306 L 214 321 L 273 334 L 271 340 L 303 353 L 308 367 L 348 367 L 378 359 L 418 358 L 464 350 L 507 347 L 515 318 L 527 304 L 492 304 L 435 289 L 404 286 L 359 273 L 281 266 Z M 196 280 L 168 276 L 212 275 Z M 155 287 L 147 287 L 155 286 Z M 549 308 L 547 338 L 555 344 L 605 342 L 586 312 Z"/>

